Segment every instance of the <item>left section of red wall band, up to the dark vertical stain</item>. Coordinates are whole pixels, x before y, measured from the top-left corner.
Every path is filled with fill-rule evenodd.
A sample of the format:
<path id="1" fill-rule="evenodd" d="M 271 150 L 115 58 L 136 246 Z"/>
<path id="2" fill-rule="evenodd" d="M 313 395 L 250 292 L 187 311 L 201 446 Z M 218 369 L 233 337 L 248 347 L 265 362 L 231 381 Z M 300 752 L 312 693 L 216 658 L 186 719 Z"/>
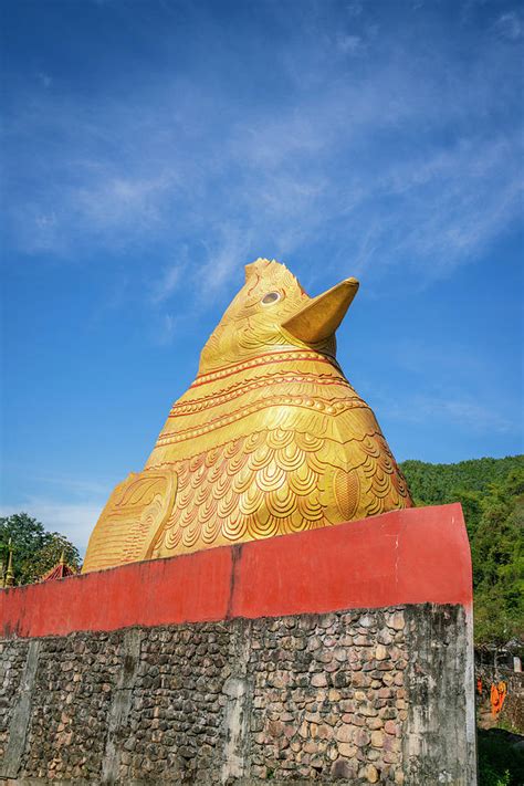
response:
<path id="1" fill-rule="evenodd" d="M 232 554 L 217 548 L 0 591 L 4 635 L 50 636 L 227 616 Z"/>

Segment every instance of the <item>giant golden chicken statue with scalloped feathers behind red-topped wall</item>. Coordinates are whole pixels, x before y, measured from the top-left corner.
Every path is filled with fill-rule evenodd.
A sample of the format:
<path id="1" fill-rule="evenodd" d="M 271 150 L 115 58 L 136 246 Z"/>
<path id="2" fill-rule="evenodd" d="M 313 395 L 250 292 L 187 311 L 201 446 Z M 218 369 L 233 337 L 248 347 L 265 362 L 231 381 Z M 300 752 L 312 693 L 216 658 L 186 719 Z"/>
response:
<path id="1" fill-rule="evenodd" d="M 283 264 L 247 265 L 144 471 L 102 512 L 84 572 L 412 504 L 373 411 L 335 359 L 335 331 L 357 290 L 347 279 L 312 298 Z"/>

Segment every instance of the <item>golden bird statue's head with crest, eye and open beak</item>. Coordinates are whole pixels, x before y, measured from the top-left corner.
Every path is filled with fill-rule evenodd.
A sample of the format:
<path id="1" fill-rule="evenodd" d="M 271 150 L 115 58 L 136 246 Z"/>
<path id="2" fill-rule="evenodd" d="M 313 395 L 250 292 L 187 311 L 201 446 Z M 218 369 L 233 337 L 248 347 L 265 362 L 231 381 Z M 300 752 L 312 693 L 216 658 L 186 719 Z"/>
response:
<path id="1" fill-rule="evenodd" d="M 335 331 L 357 290 L 358 281 L 346 279 L 310 297 L 285 265 L 258 259 L 203 347 L 199 374 L 290 347 L 334 357 Z"/>

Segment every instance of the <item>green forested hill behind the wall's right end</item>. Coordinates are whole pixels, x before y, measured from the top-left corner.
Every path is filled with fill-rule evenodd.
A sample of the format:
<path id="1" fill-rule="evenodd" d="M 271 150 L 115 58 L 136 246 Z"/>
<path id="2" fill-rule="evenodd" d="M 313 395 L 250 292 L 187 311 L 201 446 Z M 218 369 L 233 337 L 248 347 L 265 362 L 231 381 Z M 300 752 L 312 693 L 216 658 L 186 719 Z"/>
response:
<path id="1" fill-rule="evenodd" d="M 473 560 L 475 640 L 524 639 L 524 455 L 405 461 L 417 505 L 461 502 Z"/>

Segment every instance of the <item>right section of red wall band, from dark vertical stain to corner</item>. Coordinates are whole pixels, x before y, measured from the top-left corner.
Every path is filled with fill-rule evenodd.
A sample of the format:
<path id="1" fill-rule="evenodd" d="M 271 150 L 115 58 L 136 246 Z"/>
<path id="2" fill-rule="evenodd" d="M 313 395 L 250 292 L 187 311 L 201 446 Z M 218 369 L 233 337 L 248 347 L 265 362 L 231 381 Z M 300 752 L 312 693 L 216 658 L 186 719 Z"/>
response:
<path id="1" fill-rule="evenodd" d="M 471 602 L 459 504 L 394 511 L 258 545 L 244 547 L 237 567 L 233 617 Z"/>

